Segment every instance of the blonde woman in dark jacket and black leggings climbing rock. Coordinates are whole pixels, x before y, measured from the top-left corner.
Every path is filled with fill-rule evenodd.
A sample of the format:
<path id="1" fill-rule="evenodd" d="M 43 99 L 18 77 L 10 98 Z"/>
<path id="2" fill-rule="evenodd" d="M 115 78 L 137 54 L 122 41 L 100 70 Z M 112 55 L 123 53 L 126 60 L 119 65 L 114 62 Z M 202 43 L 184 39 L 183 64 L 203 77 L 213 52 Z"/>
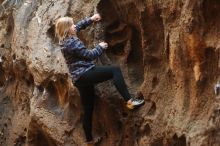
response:
<path id="1" fill-rule="evenodd" d="M 102 55 L 108 48 L 106 42 L 99 43 L 94 49 L 87 49 L 77 37 L 77 32 L 85 29 L 93 22 L 101 20 L 99 14 L 73 23 L 70 17 L 59 18 L 56 22 L 55 31 L 62 47 L 61 51 L 66 60 L 73 84 L 78 88 L 84 109 L 83 129 L 88 145 L 94 145 L 92 137 L 92 113 L 94 107 L 94 85 L 113 80 L 118 92 L 124 98 L 128 109 L 135 109 L 144 104 L 143 99 L 130 96 L 125 84 L 122 72 L 118 66 L 96 66 L 93 60 Z"/>

